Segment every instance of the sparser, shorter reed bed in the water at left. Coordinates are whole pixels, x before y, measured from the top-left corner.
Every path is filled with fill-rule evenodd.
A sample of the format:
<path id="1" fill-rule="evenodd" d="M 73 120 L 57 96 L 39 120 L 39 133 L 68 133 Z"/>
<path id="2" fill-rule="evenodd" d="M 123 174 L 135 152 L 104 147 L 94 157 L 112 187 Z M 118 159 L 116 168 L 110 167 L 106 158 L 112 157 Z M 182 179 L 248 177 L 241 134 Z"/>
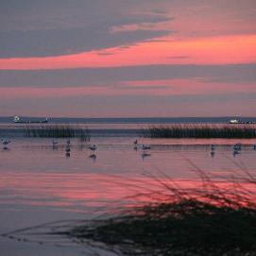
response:
<path id="1" fill-rule="evenodd" d="M 88 128 L 69 125 L 41 125 L 26 126 L 24 128 L 25 137 L 39 138 L 80 138 L 81 141 L 90 141 Z"/>

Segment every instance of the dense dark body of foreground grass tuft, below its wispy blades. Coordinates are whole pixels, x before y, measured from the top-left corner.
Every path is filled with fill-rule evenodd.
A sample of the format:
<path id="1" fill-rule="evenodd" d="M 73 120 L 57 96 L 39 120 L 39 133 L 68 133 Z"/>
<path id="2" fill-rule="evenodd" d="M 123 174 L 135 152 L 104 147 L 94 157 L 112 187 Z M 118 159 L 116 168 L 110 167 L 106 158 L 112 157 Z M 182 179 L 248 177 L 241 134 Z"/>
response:
<path id="1" fill-rule="evenodd" d="M 170 212 L 160 217 L 162 209 Z M 107 220 L 94 230 L 77 228 L 73 235 L 111 246 L 129 243 L 144 248 L 145 252 L 151 251 L 151 255 L 173 255 L 181 250 L 201 251 L 202 255 L 224 254 L 234 248 L 241 252 L 256 251 L 255 210 L 235 210 L 187 200 L 160 204 L 153 212 L 157 214 L 145 212 Z"/>

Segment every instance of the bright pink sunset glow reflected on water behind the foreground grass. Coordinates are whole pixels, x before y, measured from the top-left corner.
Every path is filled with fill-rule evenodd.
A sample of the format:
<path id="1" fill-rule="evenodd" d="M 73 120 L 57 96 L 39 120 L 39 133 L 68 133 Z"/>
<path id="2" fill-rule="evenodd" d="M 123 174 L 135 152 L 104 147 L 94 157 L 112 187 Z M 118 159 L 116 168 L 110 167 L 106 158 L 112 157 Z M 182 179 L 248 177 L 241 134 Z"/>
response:
<path id="1" fill-rule="evenodd" d="M 221 190 L 234 188 L 226 179 L 216 179 Z M 255 196 L 255 183 L 241 179 L 242 185 Z M 47 206 L 64 211 L 82 212 L 87 207 L 117 202 L 130 205 L 158 201 L 172 195 L 172 189 L 202 188 L 201 179 L 171 179 L 154 176 L 128 179 L 104 174 L 4 174 L 0 179 L 1 204 Z M 205 184 L 204 184 L 205 185 Z"/>

